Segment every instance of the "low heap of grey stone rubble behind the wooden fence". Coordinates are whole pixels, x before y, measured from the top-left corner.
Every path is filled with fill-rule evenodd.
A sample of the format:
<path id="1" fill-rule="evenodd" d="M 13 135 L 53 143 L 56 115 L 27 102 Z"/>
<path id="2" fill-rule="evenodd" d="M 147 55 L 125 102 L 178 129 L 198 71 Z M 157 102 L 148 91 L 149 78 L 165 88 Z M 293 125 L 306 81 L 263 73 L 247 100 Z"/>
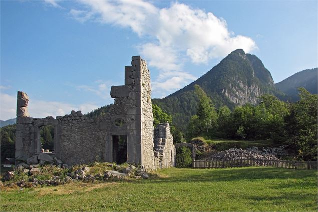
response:
<path id="1" fill-rule="evenodd" d="M 262 159 L 262 160 L 278 160 L 278 158 L 267 152 L 262 152 L 255 148 L 246 150 L 231 148 L 225 151 L 217 152 L 209 157 L 209 159 L 224 159 L 224 160 L 237 160 L 237 159 Z"/>

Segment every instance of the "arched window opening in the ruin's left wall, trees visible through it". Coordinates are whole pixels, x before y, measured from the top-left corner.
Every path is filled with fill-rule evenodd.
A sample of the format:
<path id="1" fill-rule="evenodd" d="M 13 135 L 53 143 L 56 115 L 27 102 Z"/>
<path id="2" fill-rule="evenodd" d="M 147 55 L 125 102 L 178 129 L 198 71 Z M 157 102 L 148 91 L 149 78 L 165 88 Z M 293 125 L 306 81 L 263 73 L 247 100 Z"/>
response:
<path id="1" fill-rule="evenodd" d="M 42 152 L 54 152 L 54 126 L 40 127 L 40 142 Z"/>

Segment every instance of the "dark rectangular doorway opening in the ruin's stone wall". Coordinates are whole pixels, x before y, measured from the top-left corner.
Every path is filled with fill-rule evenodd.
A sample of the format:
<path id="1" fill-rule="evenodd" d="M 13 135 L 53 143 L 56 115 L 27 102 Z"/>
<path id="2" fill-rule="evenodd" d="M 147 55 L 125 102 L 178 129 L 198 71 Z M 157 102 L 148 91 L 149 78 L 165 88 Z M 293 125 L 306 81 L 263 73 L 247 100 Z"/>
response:
<path id="1" fill-rule="evenodd" d="M 113 135 L 113 162 L 127 161 L 127 135 Z"/>

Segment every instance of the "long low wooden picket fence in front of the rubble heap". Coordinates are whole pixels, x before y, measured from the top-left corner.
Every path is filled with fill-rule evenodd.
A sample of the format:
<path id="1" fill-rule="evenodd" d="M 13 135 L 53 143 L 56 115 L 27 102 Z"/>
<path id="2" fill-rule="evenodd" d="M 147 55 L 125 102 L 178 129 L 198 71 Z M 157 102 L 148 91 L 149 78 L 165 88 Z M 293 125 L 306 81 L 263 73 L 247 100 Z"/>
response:
<path id="1" fill-rule="evenodd" d="M 277 168 L 292 169 L 317 169 L 317 161 L 295 160 L 261 160 L 261 159 L 237 159 L 237 160 L 193 160 L 193 168 L 231 168 L 243 166 L 271 166 Z"/>

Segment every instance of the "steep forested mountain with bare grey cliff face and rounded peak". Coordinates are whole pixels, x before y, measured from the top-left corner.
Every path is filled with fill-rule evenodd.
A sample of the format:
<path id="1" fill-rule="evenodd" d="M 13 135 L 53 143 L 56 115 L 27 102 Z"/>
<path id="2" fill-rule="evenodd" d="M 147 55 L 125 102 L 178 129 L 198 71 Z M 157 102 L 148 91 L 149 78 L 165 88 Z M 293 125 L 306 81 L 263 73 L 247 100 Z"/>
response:
<path id="1" fill-rule="evenodd" d="M 163 99 L 152 100 L 171 114 L 173 123 L 183 130 L 198 107 L 193 87 L 195 84 L 205 91 L 216 108 L 223 105 L 233 108 L 246 103 L 256 104 L 257 97 L 265 93 L 283 96 L 275 88 L 271 74 L 261 60 L 237 49 L 191 84 Z"/>

